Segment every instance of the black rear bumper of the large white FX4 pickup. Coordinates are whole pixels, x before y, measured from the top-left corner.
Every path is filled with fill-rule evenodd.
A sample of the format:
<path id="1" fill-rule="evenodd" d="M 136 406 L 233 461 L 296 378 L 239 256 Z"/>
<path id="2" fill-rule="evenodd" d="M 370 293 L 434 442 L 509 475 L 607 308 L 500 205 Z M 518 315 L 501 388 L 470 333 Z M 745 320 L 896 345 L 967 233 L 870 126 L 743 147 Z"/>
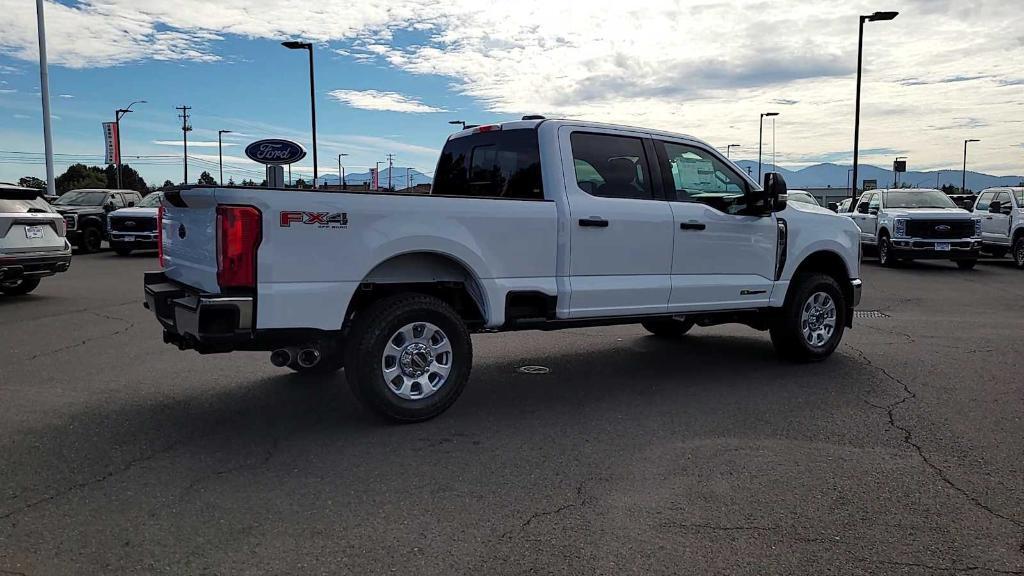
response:
<path id="1" fill-rule="evenodd" d="M 252 296 L 207 294 L 173 282 L 162 272 L 143 279 L 145 307 L 164 327 L 164 341 L 200 353 L 247 347 L 254 338 Z"/>

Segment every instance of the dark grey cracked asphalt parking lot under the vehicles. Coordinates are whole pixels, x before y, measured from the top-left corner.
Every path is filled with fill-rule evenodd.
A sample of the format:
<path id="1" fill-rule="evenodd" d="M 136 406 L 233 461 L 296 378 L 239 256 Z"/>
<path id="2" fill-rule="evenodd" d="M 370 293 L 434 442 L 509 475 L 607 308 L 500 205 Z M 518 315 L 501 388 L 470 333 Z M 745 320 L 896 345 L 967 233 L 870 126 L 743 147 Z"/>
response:
<path id="1" fill-rule="evenodd" d="M 1024 573 L 1009 260 L 865 262 L 887 317 L 811 366 L 742 327 L 475 336 L 416 425 L 163 344 L 155 265 L 0 298 L 0 574 Z"/>

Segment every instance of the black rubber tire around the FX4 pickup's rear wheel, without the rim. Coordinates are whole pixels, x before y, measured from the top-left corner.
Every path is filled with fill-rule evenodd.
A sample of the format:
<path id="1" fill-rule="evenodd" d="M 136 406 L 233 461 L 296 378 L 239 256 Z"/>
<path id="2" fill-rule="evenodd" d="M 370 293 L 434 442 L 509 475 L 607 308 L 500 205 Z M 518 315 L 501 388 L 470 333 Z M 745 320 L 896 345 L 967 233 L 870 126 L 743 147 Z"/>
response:
<path id="1" fill-rule="evenodd" d="M 452 348 L 451 370 L 436 392 L 419 400 L 399 398 L 385 381 L 385 346 L 397 332 L 416 323 L 440 328 Z M 433 296 L 406 293 L 378 300 L 360 312 L 348 331 L 345 377 L 367 408 L 396 422 L 422 422 L 447 410 L 462 394 L 473 365 L 469 330 L 447 303 Z"/>

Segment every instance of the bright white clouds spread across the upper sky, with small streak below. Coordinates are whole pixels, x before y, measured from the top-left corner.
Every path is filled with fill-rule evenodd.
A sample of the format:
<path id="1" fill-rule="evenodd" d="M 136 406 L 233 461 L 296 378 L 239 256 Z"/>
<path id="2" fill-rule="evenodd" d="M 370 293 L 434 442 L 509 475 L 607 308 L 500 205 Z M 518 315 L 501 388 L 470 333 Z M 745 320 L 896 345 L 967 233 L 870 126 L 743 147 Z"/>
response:
<path id="1" fill-rule="evenodd" d="M 6 4 L 0 53 L 32 61 L 34 7 Z M 212 61 L 221 57 L 218 44 L 226 35 L 274 42 L 303 37 L 345 58 L 446 78 L 454 91 L 503 115 L 585 117 L 756 150 L 758 114 L 776 109 L 784 163 L 852 148 L 857 16 L 877 8 L 868 0 L 251 4 L 48 0 L 50 60 L 73 68 Z M 1022 111 L 1020 0 L 897 4 L 894 22 L 870 23 L 864 31 L 862 148 L 906 151 L 911 167 L 951 166 L 956 141 L 977 137 L 982 141 L 972 165 L 1002 166 L 1019 142 L 1019 130 L 1006 121 Z M 417 32 L 417 45 L 393 42 L 406 31 Z M 385 97 L 343 91 L 339 99 L 373 110 L 436 110 L 380 94 Z M 955 120 L 968 117 L 973 121 Z M 864 161 L 891 160 L 884 154 Z M 1016 171 L 1024 172 L 1024 160 L 1016 162 Z"/>

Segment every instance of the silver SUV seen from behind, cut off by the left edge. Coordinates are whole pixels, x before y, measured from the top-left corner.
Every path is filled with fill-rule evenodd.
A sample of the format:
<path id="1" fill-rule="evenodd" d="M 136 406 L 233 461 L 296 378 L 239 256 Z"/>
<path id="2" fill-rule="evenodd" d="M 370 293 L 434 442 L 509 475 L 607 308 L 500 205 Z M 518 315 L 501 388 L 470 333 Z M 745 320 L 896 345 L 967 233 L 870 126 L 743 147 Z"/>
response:
<path id="1" fill-rule="evenodd" d="M 28 294 L 71 266 L 65 219 L 41 194 L 0 182 L 0 293 Z"/>

